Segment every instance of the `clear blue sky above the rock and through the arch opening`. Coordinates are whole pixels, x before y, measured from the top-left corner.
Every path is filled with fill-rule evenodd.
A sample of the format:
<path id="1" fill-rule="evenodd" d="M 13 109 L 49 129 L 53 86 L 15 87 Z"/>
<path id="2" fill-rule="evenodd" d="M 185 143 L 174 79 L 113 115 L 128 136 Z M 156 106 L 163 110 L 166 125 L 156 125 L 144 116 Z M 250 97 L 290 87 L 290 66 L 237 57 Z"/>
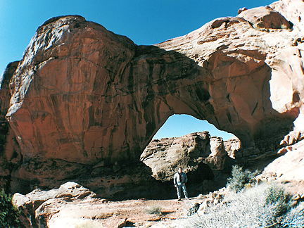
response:
<path id="1" fill-rule="evenodd" d="M 135 44 L 157 44 L 198 29 L 205 23 L 223 16 L 235 16 L 239 8 L 267 6 L 269 0 L 0 0 L 0 72 L 12 61 L 18 61 L 30 43 L 34 32 L 45 20 L 58 16 L 78 14 L 106 29 L 122 34 Z M 185 122 L 183 131 L 170 129 L 169 120 Z M 175 115 L 160 129 L 168 128 L 159 137 L 182 136 L 191 133 L 189 125 L 205 124 L 191 122 L 185 115 Z M 190 122 L 189 122 L 190 121 Z M 190 124 L 191 123 L 191 124 Z M 176 126 L 176 124 L 175 124 Z M 181 125 L 179 125 L 179 128 Z M 194 130 L 194 132 L 208 129 Z M 158 137 L 158 135 L 156 136 Z M 229 138 L 229 137 L 228 137 Z"/>

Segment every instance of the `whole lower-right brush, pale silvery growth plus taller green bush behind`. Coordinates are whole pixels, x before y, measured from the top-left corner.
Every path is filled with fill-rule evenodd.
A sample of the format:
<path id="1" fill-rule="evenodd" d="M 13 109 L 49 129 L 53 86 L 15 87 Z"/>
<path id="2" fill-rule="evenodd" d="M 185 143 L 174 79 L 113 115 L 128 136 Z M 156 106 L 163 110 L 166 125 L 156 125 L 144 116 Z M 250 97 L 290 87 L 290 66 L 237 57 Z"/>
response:
<path id="1" fill-rule="evenodd" d="M 234 166 L 223 200 L 179 220 L 176 227 L 304 227 L 303 203 L 274 182 L 258 184 L 256 174 Z"/>

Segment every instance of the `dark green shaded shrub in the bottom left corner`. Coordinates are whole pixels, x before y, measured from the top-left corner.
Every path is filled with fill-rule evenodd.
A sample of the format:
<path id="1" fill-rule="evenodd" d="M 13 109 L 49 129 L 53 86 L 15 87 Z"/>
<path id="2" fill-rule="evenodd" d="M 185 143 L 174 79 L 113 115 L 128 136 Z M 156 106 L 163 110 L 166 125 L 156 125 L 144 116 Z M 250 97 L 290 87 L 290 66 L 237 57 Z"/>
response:
<path id="1" fill-rule="evenodd" d="M 6 228 L 18 228 L 22 227 L 22 224 L 18 218 L 19 211 L 12 203 L 12 197 L 4 192 L 4 189 L 0 191 L 0 227 Z"/>

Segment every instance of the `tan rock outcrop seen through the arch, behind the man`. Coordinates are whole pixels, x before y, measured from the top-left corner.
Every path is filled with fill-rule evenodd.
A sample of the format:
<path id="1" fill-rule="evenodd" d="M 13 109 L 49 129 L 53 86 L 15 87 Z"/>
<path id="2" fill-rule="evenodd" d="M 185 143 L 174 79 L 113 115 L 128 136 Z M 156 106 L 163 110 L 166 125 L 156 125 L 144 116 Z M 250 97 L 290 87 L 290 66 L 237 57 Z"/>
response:
<path id="1" fill-rule="evenodd" d="M 231 158 L 230 158 L 231 159 Z M 195 172 L 191 182 L 212 179 L 217 171 L 228 167 L 229 156 L 222 138 L 211 137 L 208 132 L 186 134 L 178 138 L 155 139 L 141 154 L 141 161 L 151 167 L 153 177 L 169 181 L 182 167 L 184 172 Z M 189 174 L 188 174 L 189 175 Z"/>

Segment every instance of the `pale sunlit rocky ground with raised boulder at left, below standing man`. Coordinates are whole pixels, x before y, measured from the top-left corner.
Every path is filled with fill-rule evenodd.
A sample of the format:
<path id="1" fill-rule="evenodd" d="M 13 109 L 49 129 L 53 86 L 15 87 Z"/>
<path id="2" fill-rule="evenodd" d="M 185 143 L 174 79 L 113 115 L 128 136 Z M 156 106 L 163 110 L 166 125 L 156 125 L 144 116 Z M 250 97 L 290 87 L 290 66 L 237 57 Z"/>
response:
<path id="1" fill-rule="evenodd" d="M 13 201 L 23 210 L 28 227 L 151 227 L 187 217 L 189 208 L 202 203 L 203 196 L 183 199 L 107 201 L 75 182 L 59 189 L 39 189 Z M 37 209 L 36 209 L 37 208 Z M 32 210 L 34 209 L 34 210 Z M 34 218 L 36 217 L 36 218 Z"/>

